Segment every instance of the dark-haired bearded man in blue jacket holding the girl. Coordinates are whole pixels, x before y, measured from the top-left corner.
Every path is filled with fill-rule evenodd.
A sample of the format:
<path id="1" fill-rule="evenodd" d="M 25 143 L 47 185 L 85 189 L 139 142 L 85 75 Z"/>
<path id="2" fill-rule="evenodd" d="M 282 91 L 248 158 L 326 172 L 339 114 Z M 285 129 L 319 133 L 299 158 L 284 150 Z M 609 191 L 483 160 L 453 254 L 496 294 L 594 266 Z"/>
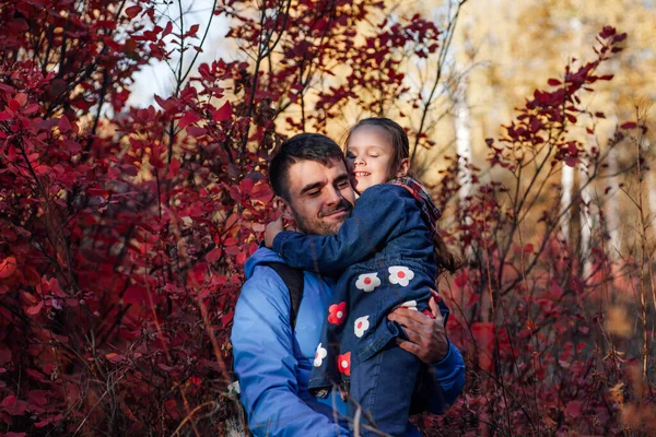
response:
<path id="1" fill-rule="evenodd" d="M 302 133 L 285 141 L 271 161 L 270 180 L 274 206 L 306 234 L 337 233 L 353 208 L 343 154 L 324 135 Z M 289 291 L 270 267 L 262 265 L 266 262 L 283 261 L 260 248 L 246 262 L 247 281 L 231 338 L 250 430 L 256 436 L 348 436 L 347 405 L 339 392 L 318 399 L 307 391 L 335 282 L 304 272 L 303 299 L 292 330 Z M 400 323 L 408 336 L 398 341 L 399 346 L 431 365 L 440 387 L 429 408 L 442 412 L 462 389 L 465 366 L 446 339 L 437 306 L 431 307 L 435 319 L 407 308 L 396 309 L 389 319 Z M 407 436 L 411 435 L 419 432 L 409 425 Z"/>

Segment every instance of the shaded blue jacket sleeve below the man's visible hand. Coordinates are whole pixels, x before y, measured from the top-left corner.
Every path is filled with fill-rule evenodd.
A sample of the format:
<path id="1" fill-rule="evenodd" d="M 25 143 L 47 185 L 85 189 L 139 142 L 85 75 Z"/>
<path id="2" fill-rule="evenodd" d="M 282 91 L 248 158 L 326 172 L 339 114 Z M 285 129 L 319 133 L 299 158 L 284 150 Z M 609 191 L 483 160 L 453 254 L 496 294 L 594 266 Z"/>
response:
<path id="1" fill-rule="evenodd" d="M 446 356 L 433 365 L 437 385 L 429 395 L 427 410 L 443 414 L 456 402 L 465 386 L 465 361 L 458 347 L 449 342 Z"/>

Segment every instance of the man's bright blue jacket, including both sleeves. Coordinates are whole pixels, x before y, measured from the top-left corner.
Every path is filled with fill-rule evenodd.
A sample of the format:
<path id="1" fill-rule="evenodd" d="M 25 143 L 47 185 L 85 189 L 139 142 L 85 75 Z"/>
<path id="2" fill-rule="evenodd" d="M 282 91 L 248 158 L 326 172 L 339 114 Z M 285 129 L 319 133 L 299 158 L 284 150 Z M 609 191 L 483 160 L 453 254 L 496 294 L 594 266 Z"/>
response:
<path id="1" fill-rule="evenodd" d="M 326 399 L 307 391 L 312 363 L 335 283 L 304 273 L 305 287 L 296 317 L 290 324 L 291 303 L 286 285 L 265 262 L 284 262 L 267 248 L 246 262 L 246 283 L 235 309 L 231 335 L 235 373 L 248 426 L 255 436 L 349 436 L 347 405 L 336 391 Z M 465 383 L 465 364 L 456 346 L 433 365 L 440 393 L 430 410 L 443 412 Z M 419 436 L 408 424 L 407 436 Z"/>

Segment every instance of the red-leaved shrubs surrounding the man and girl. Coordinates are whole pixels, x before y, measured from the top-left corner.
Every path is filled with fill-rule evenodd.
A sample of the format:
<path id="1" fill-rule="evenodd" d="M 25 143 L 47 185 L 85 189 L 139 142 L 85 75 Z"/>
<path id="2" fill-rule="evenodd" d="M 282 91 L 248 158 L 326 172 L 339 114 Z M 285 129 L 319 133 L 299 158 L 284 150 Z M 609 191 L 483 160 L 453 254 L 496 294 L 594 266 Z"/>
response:
<path id="1" fill-rule="evenodd" d="M 262 20 L 239 13 L 238 3 L 219 2 L 215 13 L 233 20 L 229 37 L 253 61 L 218 60 L 196 76 L 184 60 L 204 37 L 198 25 L 174 26 L 155 2 L 0 8 L 0 423 L 8 436 L 223 432 L 232 414 L 227 338 L 244 262 L 270 220 L 265 177 L 280 142 L 276 122 L 324 131 L 347 105 L 383 113 L 406 101 L 430 109 L 400 71 L 440 49 L 430 21 L 385 21 L 361 42 L 354 29 L 382 2 L 298 1 L 291 10 L 265 2 L 273 13 Z M 597 168 L 605 156 L 566 127 L 583 110 L 576 94 L 610 79 L 595 71 L 623 37 L 605 28 L 595 61 L 537 91 L 506 135 L 489 142 L 491 166 L 522 180 L 518 156 L 535 153 L 544 168 Z M 174 92 L 155 96 L 159 108 L 126 108 L 134 72 L 151 59 L 175 67 Z M 306 104 L 337 66 L 348 66 L 345 82 Z M 301 115 L 285 114 L 290 107 Z M 425 131 L 414 134 L 430 144 Z M 456 173 L 454 161 L 437 190 L 444 205 L 459 188 Z M 449 229 L 471 261 L 443 288 L 469 386 L 449 414 L 426 423 L 438 421 L 442 432 L 606 434 L 621 429 L 620 415 L 626 423 L 646 416 L 644 404 L 622 406 L 635 393 L 622 389 L 632 358 L 599 346 L 604 310 L 585 305 L 602 299 L 598 288 L 610 277 L 577 272 L 553 209 L 539 238 L 517 243 L 535 191 L 508 203 L 500 182 L 473 182 L 479 189 Z M 608 260 L 601 251 L 594 262 L 604 270 Z"/>

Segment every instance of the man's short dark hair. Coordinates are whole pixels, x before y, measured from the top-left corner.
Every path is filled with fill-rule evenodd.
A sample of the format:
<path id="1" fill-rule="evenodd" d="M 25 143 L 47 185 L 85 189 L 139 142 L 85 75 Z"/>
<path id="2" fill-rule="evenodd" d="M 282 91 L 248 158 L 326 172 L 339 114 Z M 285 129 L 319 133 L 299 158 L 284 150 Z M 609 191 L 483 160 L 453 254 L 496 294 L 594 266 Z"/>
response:
<path id="1" fill-rule="evenodd" d="M 314 161 L 329 165 L 331 161 L 344 160 L 342 150 L 335 141 L 320 133 L 298 133 L 285 140 L 269 165 L 269 181 L 277 196 L 290 201 L 288 174 L 292 164 Z"/>

